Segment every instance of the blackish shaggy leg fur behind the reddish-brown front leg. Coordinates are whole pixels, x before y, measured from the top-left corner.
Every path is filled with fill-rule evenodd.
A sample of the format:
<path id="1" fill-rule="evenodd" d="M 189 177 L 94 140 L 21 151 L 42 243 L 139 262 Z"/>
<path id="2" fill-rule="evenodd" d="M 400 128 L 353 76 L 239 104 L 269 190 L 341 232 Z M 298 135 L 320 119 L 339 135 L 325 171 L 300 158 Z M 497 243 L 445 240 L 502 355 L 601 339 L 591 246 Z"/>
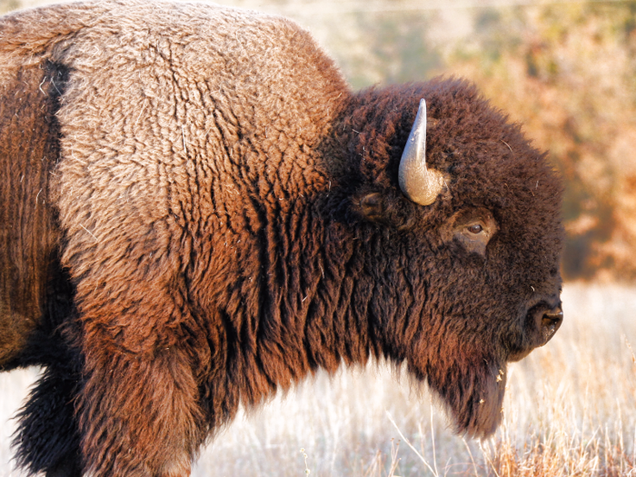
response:
<path id="1" fill-rule="evenodd" d="M 45 365 L 42 377 L 17 414 L 14 436 L 18 465 L 47 477 L 81 476 L 80 439 L 75 419 L 82 360 L 68 339 L 74 316 L 73 286 L 55 259 L 51 263 L 46 313 L 30 337 L 21 365 Z"/>

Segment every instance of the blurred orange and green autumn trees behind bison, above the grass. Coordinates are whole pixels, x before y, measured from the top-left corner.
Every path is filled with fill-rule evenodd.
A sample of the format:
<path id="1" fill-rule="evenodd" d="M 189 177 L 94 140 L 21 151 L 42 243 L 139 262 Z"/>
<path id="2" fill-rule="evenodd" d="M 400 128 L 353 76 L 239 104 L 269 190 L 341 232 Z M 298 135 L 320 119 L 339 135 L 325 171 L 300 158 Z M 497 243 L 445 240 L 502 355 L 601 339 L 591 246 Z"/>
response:
<path id="1" fill-rule="evenodd" d="M 0 0 L 0 11 L 41 5 Z M 292 17 L 353 88 L 462 75 L 566 179 L 566 279 L 636 279 L 636 1 L 217 0 Z"/>

